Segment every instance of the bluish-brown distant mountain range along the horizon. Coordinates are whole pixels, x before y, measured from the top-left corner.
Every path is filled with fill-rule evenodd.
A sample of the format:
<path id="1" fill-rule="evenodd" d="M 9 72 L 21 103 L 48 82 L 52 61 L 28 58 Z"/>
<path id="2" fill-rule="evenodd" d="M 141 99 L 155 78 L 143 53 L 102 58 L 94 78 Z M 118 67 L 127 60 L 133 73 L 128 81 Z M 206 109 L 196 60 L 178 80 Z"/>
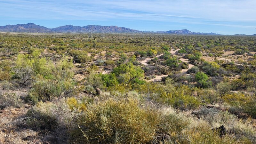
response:
<path id="1" fill-rule="evenodd" d="M 139 31 L 130 28 L 117 26 L 60 26 L 58 28 L 46 28 L 34 23 L 0 26 L 0 32 L 27 32 L 27 33 L 159 33 L 159 34 L 180 34 L 180 35 L 219 35 L 215 33 L 191 32 L 187 29 L 169 31 Z M 256 35 L 256 34 L 255 34 Z M 255 36 L 253 35 L 253 36 Z"/>

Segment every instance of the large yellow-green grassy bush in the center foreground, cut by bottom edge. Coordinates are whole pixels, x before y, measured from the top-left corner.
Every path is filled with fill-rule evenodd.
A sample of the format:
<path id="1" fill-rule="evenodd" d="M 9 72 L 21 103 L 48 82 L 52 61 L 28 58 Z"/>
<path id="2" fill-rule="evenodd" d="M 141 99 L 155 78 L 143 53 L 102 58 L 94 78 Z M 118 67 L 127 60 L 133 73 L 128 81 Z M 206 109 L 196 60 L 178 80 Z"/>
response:
<path id="1" fill-rule="evenodd" d="M 188 120 L 173 112 L 142 108 L 137 100 L 109 99 L 92 104 L 68 132 L 75 143 L 149 143 L 179 133 Z"/>

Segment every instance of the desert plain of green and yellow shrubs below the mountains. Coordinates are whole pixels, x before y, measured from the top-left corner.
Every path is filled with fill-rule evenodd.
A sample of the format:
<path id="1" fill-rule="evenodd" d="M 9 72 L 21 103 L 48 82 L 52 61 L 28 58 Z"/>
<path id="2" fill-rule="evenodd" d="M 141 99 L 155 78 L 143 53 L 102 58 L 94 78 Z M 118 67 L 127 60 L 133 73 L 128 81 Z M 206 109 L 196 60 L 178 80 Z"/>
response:
<path id="1" fill-rule="evenodd" d="M 256 36 L 0 40 L 0 143 L 256 143 Z"/>

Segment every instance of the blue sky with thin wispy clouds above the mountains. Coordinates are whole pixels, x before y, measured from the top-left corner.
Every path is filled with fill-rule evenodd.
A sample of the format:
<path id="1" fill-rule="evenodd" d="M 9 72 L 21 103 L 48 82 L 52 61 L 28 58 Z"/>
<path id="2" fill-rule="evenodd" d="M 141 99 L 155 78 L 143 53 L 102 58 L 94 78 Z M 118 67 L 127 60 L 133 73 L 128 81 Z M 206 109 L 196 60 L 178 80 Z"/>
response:
<path id="1" fill-rule="evenodd" d="M 0 0 L 1 26 L 29 22 L 252 35 L 256 0 Z"/>

